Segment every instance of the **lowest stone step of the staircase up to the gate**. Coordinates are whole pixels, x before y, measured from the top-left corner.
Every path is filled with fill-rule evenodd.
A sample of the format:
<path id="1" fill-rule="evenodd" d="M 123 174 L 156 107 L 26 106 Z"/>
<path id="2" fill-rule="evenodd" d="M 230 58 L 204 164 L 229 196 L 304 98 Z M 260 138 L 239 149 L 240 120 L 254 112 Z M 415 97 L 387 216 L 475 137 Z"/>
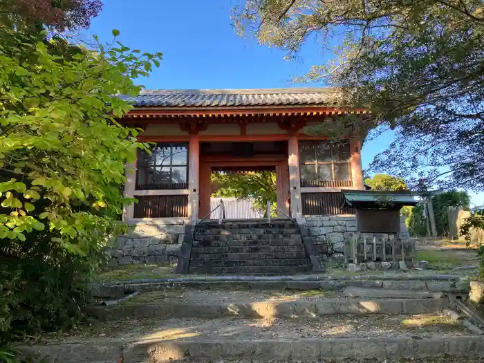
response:
<path id="1" fill-rule="evenodd" d="M 307 261 L 307 260 L 306 260 Z M 190 267 L 190 273 L 201 274 L 297 274 L 310 271 L 309 262 L 306 265 L 284 266 L 281 260 L 281 266 L 232 266 L 232 267 Z"/>

